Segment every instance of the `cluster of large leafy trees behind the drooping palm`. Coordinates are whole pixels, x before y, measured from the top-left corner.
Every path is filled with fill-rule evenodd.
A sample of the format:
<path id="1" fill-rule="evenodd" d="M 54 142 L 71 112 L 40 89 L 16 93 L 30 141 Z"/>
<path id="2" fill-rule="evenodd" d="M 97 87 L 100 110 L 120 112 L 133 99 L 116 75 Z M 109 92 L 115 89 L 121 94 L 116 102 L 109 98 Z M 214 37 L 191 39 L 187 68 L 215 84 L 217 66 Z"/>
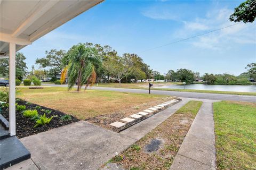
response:
<path id="1" fill-rule="evenodd" d="M 46 51 L 44 57 L 37 58 L 36 64 L 44 69 L 45 77 L 50 77 L 52 81 L 55 81 L 57 75 L 61 74 L 65 66 L 68 65 L 68 58 L 77 46 L 84 46 L 86 49 L 94 51 L 93 55 L 101 61 L 100 67 L 95 66 L 97 82 L 100 79 L 104 82 L 111 82 L 113 79 L 119 83 L 131 82 L 132 80 L 137 82 L 137 80 L 151 78 L 152 70 L 137 54 L 124 53 L 119 55 L 108 45 L 101 46 L 92 43 L 75 45 L 68 52 L 56 49 Z"/>

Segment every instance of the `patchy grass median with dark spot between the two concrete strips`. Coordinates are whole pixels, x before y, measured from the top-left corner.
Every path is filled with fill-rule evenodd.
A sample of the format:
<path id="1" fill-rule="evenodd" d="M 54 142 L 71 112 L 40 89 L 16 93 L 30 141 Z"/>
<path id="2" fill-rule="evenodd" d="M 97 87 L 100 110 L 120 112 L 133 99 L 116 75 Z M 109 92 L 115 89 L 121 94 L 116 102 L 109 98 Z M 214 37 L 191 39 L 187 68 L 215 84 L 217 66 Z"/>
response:
<path id="1" fill-rule="evenodd" d="M 169 169 L 201 105 L 201 101 L 189 101 L 109 162 L 120 164 L 125 169 Z M 161 140 L 160 148 L 153 152 L 145 151 L 153 139 Z"/>

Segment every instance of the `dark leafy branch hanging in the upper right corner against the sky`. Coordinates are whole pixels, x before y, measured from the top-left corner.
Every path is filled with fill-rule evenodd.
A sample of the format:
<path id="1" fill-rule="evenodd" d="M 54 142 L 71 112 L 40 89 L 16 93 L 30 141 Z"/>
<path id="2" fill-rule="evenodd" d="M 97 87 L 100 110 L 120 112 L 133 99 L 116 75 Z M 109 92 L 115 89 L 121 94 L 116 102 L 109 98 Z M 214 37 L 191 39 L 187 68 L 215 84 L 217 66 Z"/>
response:
<path id="1" fill-rule="evenodd" d="M 256 1 L 247 0 L 235 8 L 235 11 L 230 15 L 229 20 L 244 23 L 253 22 L 256 18 Z"/>

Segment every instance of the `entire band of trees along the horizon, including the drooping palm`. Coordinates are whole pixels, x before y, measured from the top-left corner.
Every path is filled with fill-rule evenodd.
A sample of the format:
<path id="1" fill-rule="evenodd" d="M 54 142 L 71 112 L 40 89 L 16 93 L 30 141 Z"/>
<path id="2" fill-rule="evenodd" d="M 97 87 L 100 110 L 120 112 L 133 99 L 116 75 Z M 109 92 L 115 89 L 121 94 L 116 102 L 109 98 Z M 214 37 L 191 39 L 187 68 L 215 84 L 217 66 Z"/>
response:
<path id="1" fill-rule="evenodd" d="M 145 79 L 154 79 L 186 82 L 187 84 L 202 80 L 202 83 L 206 84 L 251 84 L 249 79 L 256 80 L 256 63 L 248 64 L 245 67 L 247 72 L 239 76 L 227 73 L 205 73 L 200 76 L 198 72 L 188 69 L 169 70 L 163 75 L 150 69 L 150 66 L 143 62 L 137 54 L 119 55 L 108 45 L 101 46 L 92 43 L 74 45 L 68 52 L 56 49 L 46 51 L 44 57 L 36 59 L 35 64 L 39 65 L 37 70 L 33 65 L 31 71 L 28 71 L 25 60 L 26 57 L 22 53 L 16 54 L 16 78 L 21 81 L 24 78 L 32 80 L 47 77 L 52 78 L 51 81 L 54 82 L 63 71 L 65 71 L 65 76 L 67 74 L 70 78 L 69 83 L 74 84 L 78 80 L 82 85 L 94 81 L 94 79 L 95 82 L 116 81 L 118 83 L 136 83 L 138 80 L 142 82 Z M 9 77 L 8 59 L 0 61 L 0 76 Z"/>

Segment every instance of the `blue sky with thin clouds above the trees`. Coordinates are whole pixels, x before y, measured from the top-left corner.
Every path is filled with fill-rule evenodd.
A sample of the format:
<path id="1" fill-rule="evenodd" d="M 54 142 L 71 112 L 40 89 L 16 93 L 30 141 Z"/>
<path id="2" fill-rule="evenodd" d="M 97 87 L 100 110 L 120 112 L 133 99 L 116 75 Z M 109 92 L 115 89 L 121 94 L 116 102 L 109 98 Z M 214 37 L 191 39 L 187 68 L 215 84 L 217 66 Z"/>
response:
<path id="1" fill-rule="evenodd" d="M 20 52 L 30 69 L 37 57 L 45 56 L 45 50 L 68 50 L 91 42 L 110 45 L 119 55 L 137 53 L 161 73 L 186 68 L 201 75 L 239 75 L 247 64 L 256 62 L 255 22 L 143 51 L 234 24 L 228 18 L 241 2 L 105 1 Z"/>

